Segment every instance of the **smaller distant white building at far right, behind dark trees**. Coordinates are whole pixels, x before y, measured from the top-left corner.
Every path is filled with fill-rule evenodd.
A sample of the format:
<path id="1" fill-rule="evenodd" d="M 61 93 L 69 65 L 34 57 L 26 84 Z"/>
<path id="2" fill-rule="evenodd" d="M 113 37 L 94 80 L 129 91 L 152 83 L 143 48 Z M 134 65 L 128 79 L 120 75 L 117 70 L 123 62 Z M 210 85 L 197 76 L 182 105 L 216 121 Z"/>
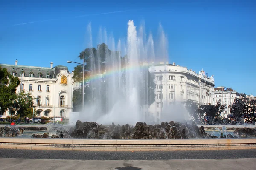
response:
<path id="1" fill-rule="evenodd" d="M 229 105 L 232 105 L 234 99 L 239 98 L 239 93 L 234 91 L 232 88 L 226 88 L 224 86 L 220 86 L 214 88 L 214 105 L 217 105 L 217 102 L 221 102 L 221 105 L 226 105 L 227 108 L 223 112 L 221 112 L 222 117 L 227 117 L 230 114 Z"/>

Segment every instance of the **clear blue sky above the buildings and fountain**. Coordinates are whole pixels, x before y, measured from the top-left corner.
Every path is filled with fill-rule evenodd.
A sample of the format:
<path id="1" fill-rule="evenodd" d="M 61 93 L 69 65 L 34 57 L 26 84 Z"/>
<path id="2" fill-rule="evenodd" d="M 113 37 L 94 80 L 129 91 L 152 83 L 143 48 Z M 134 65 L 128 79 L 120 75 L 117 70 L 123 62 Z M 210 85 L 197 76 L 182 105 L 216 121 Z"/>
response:
<path id="1" fill-rule="evenodd" d="M 49 67 L 75 65 L 86 48 L 92 24 L 93 45 L 99 27 L 117 39 L 126 37 L 128 20 L 145 21 L 147 34 L 161 22 L 168 37 L 169 63 L 214 74 L 215 87 L 232 87 L 256 96 L 256 1 L 157 0 L 0 1 L 0 63 Z M 119 11 L 119 12 L 116 12 Z M 102 14 L 106 13 L 106 14 Z"/>

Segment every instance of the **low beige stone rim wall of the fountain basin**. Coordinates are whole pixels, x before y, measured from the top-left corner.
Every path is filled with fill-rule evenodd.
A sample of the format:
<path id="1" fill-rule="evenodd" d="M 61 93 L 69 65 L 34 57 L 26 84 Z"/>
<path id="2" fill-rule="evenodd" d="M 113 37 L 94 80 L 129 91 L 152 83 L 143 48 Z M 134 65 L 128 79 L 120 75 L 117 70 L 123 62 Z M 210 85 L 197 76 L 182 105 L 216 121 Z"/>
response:
<path id="1" fill-rule="evenodd" d="M 232 139 L 42 139 L 0 137 L 0 148 L 84 151 L 256 149 L 256 138 Z"/>

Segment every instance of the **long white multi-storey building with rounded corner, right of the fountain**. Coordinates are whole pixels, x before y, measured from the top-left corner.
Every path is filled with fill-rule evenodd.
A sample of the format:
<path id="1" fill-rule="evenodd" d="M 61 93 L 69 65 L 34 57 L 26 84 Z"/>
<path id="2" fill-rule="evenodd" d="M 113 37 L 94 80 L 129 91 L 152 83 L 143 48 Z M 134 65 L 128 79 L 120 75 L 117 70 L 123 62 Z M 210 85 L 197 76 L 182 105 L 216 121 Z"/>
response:
<path id="1" fill-rule="evenodd" d="M 162 109 L 168 105 L 184 105 L 192 99 L 199 105 L 214 104 L 214 79 L 204 71 L 197 74 L 192 69 L 173 64 L 152 65 L 149 72 L 155 75 L 155 102 L 150 105 L 150 113 L 161 118 Z M 161 105 L 163 107 L 161 107 Z"/>

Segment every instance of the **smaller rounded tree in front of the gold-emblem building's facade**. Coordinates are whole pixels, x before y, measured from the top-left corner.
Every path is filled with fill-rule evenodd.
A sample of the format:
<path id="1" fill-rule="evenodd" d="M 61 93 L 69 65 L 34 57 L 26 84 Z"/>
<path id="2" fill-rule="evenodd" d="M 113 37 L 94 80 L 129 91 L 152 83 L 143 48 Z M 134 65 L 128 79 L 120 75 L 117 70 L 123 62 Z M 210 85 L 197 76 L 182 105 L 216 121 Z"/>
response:
<path id="1" fill-rule="evenodd" d="M 33 97 L 31 93 L 27 93 L 25 91 L 20 91 L 17 93 L 17 99 L 14 102 L 14 107 L 18 114 L 21 117 L 23 116 L 30 116 L 33 115 Z"/>

